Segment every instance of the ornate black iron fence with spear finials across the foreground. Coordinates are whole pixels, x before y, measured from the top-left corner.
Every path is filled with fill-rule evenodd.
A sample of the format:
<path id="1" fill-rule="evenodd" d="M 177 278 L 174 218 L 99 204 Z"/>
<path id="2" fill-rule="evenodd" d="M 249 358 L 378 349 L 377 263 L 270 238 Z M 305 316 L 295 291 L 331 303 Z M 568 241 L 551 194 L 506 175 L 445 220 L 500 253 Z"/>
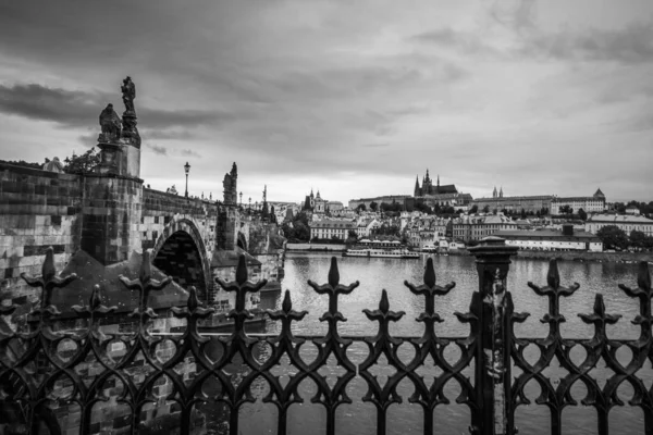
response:
<path id="1" fill-rule="evenodd" d="M 52 291 L 64 288 L 75 276 L 58 276 L 52 262 L 52 251 L 48 251 L 40 276 L 26 276 L 23 278 L 34 287 L 40 287 L 40 307 L 30 313 L 34 327 L 27 333 L 10 333 L 0 336 L 0 394 L 1 403 L 13 407 L 15 423 L 8 425 L 8 433 L 38 433 L 39 428 L 48 427 L 50 433 L 62 433 L 48 402 L 59 400 L 74 403 L 79 409 L 77 422 L 79 433 L 93 433 L 91 411 L 96 403 L 107 401 L 108 385 L 114 385 L 119 380 L 123 388 L 118 395 L 118 402 L 126 405 L 130 413 L 126 417 L 127 433 L 141 431 L 141 413 L 147 403 L 157 402 L 161 391 L 157 391 L 160 380 L 167 376 L 172 382 L 169 390 L 164 391 L 165 400 L 175 403 L 181 419 L 180 431 L 189 434 L 193 427 L 194 407 L 199 403 L 221 402 L 229 408 L 229 433 L 238 434 L 238 409 L 255 399 L 250 387 L 256 378 L 263 378 L 269 384 L 269 394 L 262 399 L 273 403 L 279 410 L 278 433 L 286 433 L 288 409 L 293 403 L 304 401 L 300 396 L 299 385 L 305 380 L 312 380 L 318 387 L 318 393 L 310 399 L 313 403 L 321 403 L 326 411 L 326 434 L 335 433 L 336 409 L 345 403 L 350 403 L 352 398 L 346 393 L 349 382 L 358 374 L 367 383 L 367 394 L 361 398 L 371 402 L 377 409 L 377 433 L 386 433 L 386 413 L 393 403 L 403 401 L 397 393 L 402 381 L 408 380 L 415 387 L 407 399 L 410 403 L 419 405 L 423 409 L 423 432 L 438 433 L 433 422 L 433 410 L 449 399 L 444 395 L 443 388 L 449 380 L 455 380 L 461 393 L 455 399 L 458 403 L 466 405 L 470 410 L 471 434 L 516 434 L 515 411 L 521 405 L 530 403 L 525 394 L 525 386 L 534 380 L 541 389 L 537 403 L 544 405 L 551 410 L 551 433 L 562 434 L 562 413 L 570 406 L 578 402 L 571 396 L 571 387 L 577 382 L 584 384 L 587 396 L 581 400 L 583 406 L 593 407 L 597 413 L 599 434 L 608 433 L 608 413 L 615 406 L 624 405 L 617 395 L 617 388 L 623 383 L 629 383 L 634 395 L 629 401 L 631 406 L 640 407 L 644 414 L 644 432 L 653 434 L 653 388 L 646 389 L 644 382 L 637 376 L 646 359 L 653 362 L 651 313 L 651 277 L 648 264 L 640 264 L 637 277 L 638 287 L 619 287 L 632 298 L 639 299 L 640 314 L 632 323 L 640 325 L 641 334 L 637 339 L 613 340 L 606 335 L 606 325 L 614 324 L 619 315 L 607 314 L 602 295 L 596 295 L 592 313 L 579 314 L 587 324 L 594 325 L 594 335 L 590 339 L 567 339 L 560 334 L 560 323 L 565 318 L 560 314 L 559 303 L 562 297 L 571 296 L 578 285 L 565 287 L 560 279 L 555 260 L 551 261 L 546 278 L 546 286 L 540 287 L 532 283 L 529 286 L 540 296 L 549 298 L 549 313 L 541 320 L 549 324 L 549 334 L 543 339 L 520 338 L 515 335 L 514 325 L 523 322 L 528 313 L 515 312 L 510 293 L 506 289 L 506 276 L 509 257 L 515 249 L 504 245 L 498 238 L 489 237 L 480 246 L 472 248 L 477 258 L 479 274 L 479 289 L 472 295 L 469 312 L 456 312 L 457 319 L 469 325 L 469 334 L 457 338 L 445 338 L 438 334 L 436 324 L 442 322 L 436 310 L 436 297 L 446 295 L 455 284 L 438 285 L 432 260 L 429 259 L 421 285 L 406 282 L 411 293 L 423 296 L 424 309 L 417 319 L 423 323 L 421 337 L 393 337 L 389 331 L 391 322 L 398 321 L 405 313 L 394 312 L 385 290 L 375 310 L 365 310 L 370 321 L 378 322 L 378 333 L 370 337 L 345 337 L 338 333 L 338 323 L 345 322 L 338 311 L 340 298 L 350 294 L 358 286 L 358 282 L 350 285 L 340 283 L 337 262 L 332 259 L 328 283 L 318 285 L 309 281 L 309 285 L 319 294 L 328 295 L 329 310 L 320 318 L 326 322 L 329 328 L 323 336 L 295 336 L 291 324 L 299 322 L 307 314 L 306 311 L 293 309 L 289 294 L 286 291 L 280 310 L 268 310 L 268 315 L 281 323 L 281 332 L 274 335 L 250 336 L 245 333 L 245 321 L 251 316 L 245 309 L 248 293 L 258 291 L 266 282 L 251 283 L 247 281 L 247 269 L 244 258 L 237 268 L 234 282 L 218 279 L 226 291 L 236 293 L 236 306 L 229 316 L 234 322 L 233 333 L 221 339 L 222 353 L 217 359 L 211 359 L 206 349 L 209 338 L 198 332 L 198 324 L 212 313 L 211 308 L 204 308 L 198 301 L 194 288 L 189 290 L 187 307 L 172 308 L 173 314 L 186 319 L 186 327 L 182 334 L 171 337 L 174 341 L 174 352 L 164 362 L 156 356 L 157 345 L 162 337 L 152 336 L 148 332 L 148 324 L 157 314 L 148 307 L 151 297 L 168 279 L 158 282 L 151 278 L 150 259 L 146 253 L 140 276 L 130 281 L 121 277 L 126 289 L 138 291 L 139 306 L 132 313 L 136 319 L 136 328 L 132 335 L 122 337 L 107 335 L 101 331 L 100 321 L 115 310 L 115 307 L 106 307 L 102 303 L 101 291 L 98 286 L 93 289 L 88 306 L 73 307 L 81 319 L 88 322 L 87 328 L 82 332 L 54 331 L 52 327 L 60 312 L 51 304 Z M 15 307 L 0 307 L 0 314 L 11 314 Z M 62 358 L 57 351 L 62 340 L 67 339 L 76 344 L 75 349 Z M 120 339 L 125 351 L 112 360 L 109 357 L 108 343 Z M 354 341 L 365 343 L 369 353 L 365 361 L 356 365 L 347 357 L 346 350 Z M 271 347 L 269 358 L 259 362 L 254 356 L 256 344 L 266 343 Z M 300 355 L 300 347 L 305 343 L 317 346 L 318 355 L 312 362 L 306 362 Z M 405 362 L 397 355 L 402 344 L 409 344 L 415 349 L 415 357 Z M 540 350 L 540 356 L 534 363 L 529 363 L 525 358 L 525 348 L 534 345 Z M 570 357 L 570 349 L 580 345 L 587 352 L 584 360 L 575 363 Z M 444 358 L 445 349 L 456 346 L 460 357 L 455 363 L 449 363 Z M 623 365 L 616 352 L 620 347 L 628 347 L 632 358 L 628 364 Z M 143 357 L 143 363 L 148 366 L 149 373 L 140 382 L 134 378 L 130 368 L 137 361 L 137 356 Z M 280 376 L 272 373 L 272 369 L 280 364 L 282 357 L 286 356 L 296 373 L 289 377 L 287 384 L 280 382 Z M 329 358 L 334 357 L 337 364 L 344 369 L 334 385 L 330 386 L 326 377 L 318 371 L 323 368 Z M 372 369 L 384 358 L 387 364 L 394 368 L 395 373 L 381 385 L 373 375 Z M 434 365 L 441 370 L 431 386 L 417 373 L 428 358 L 432 358 Z M 560 365 L 568 371 L 559 384 L 553 385 L 543 373 L 550 366 L 553 358 L 557 358 Z M 190 359 L 189 359 L 190 358 Z M 81 376 L 76 368 L 84 361 L 94 360 L 97 370 L 93 375 Z M 184 361 L 195 364 L 194 376 L 184 377 L 175 366 Z M 241 360 L 247 365 L 248 373 L 234 383 L 225 368 Z M 601 387 L 590 371 L 603 361 L 614 374 Z M 39 361 L 35 366 L 35 361 Z M 465 369 L 473 368 L 473 380 L 465 376 Z M 520 374 L 513 378 L 512 370 L 518 368 Z M 207 382 L 218 382 L 220 394 L 209 397 L 202 385 Z M 66 394 L 57 391 L 57 385 L 64 382 L 70 388 Z M 97 427 L 95 427 L 97 432 Z"/>

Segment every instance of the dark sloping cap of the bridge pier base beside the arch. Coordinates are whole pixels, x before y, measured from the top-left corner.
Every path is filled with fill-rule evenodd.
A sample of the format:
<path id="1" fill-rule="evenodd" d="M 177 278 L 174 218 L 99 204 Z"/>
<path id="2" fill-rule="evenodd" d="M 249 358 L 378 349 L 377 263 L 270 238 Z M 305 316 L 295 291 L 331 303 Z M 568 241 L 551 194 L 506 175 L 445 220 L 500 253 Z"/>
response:
<path id="1" fill-rule="evenodd" d="M 119 276 L 124 275 L 130 279 L 135 279 L 140 274 L 140 264 L 143 254 L 132 252 L 128 260 L 120 263 L 103 265 L 83 250 L 75 252 L 67 265 L 61 271 L 60 275 L 65 276 L 72 273 L 77 274 L 77 279 L 71 282 L 63 288 L 57 288 L 52 291 L 52 303 L 59 311 L 66 314 L 73 314 L 72 306 L 87 306 L 93 287 L 96 284 L 102 286 L 102 303 L 107 307 L 116 306 L 118 312 L 134 311 L 138 308 L 138 291 L 128 290 Z M 165 278 L 163 272 L 151 265 L 152 279 L 162 281 Z M 172 282 L 160 290 L 150 293 L 149 307 L 155 310 L 167 309 L 171 307 L 185 307 L 188 300 L 188 293 L 178 284 Z"/>

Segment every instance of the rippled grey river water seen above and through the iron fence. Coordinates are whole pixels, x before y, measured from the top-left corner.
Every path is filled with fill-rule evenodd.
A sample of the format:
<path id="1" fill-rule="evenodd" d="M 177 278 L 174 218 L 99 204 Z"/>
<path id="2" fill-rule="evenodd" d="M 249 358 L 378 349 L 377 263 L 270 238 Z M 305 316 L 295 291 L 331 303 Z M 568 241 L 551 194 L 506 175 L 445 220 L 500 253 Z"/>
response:
<path id="1" fill-rule="evenodd" d="M 416 318 L 423 310 L 423 297 L 412 295 L 404 285 L 407 279 L 415 284 L 422 282 L 423 269 L 427 256 L 421 260 L 397 260 L 397 259 L 367 259 L 367 258 L 341 258 L 338 259 L 338 269 L 341 284 L 349 284 L 355 281 L 360 282 L 360 286 L 350 295 L 342 296 L 338 302 L 338 309 L 347 319 L 341 323 L 338 331 L 341 335 L 374 335 L 377 332 L 377 322 L 370 322 L 362 310 L 365 308 L 375 309 L 381 298 L 382 289 L 389 293 L 390 307 L 394 311 L 405 311 L 404 318 L 391 325 L 391 333 L 397 336 L 420 336 L 423 326 L 416 322 Z M 328 331 L 326 324 L 319 321 L 319 318 L 328 310 L 328 297 L 318 295 L 307 285 L 308 279 L 319 284 L 326 282 L 326 275 L 330 268 L 331 256 L 328 254 L 288 254 L 285 263 L 285 277 L 282 288 L 289 289 L 293 308 L 295 310 L 307 310 L 309 313 L 304 321 L 293 324 L 293 333 L 296 335 L 322 335 Z M 467 312 L 471 294 L 478 289 L 478 275 L 476 272 L 475 260 L 471 257 L 434 257 L 435 273 L 438 283 L 455 282 L 456 287 L 448 295 L 436 299 L 435 311 L 440 313 L 443 323 L 436 326 L 440 336 L 463 337 L 469 333 L 469 327 L 459 323 L 454 312 Z M 547 325 L 540 322 L 540 319 L 547 310 L 547 299 L 538 297 L 527 285 L 529 281 L 544 286 L 546 284 L 546 272 L 549 262 L 543 260 L 514 260 L 508 274 L 508 290 L 513 294 L 516 311 L 528 311 L 530 318 L 520 325 L 516 326 L 516 333 L 521 337 L 545 337 Z M 593 326 L 588 326 L 578 318 L 578 313 L 591 313 L 594 303 L 594 295 L 602 293 L 608 313 L 618 313 L 623 319 L 614 326 L 608 326 L 608 336 L 611 338 L 636 338 L 639 336 L 639 326 L 632 325 L 630 321 L 639 313 L 638 303 L 630 299 L 617 287 L 617 284 L 624 283 L 629 286 L 636 286 L 637 264 L 615 264 L 615 263 L 578 263 L 560 262 L 558 264 L 560 283 L 569 285 L 574 282 L 580 284 L 580 289 L 570 298 L 563 299 L 560 312 L 565 315 L 567 322 L 563 323 L 562 332 L 566 338 L 590 338 L 593 334 Z M 264 295 L 261 298 L 263 308 L 281 308 L 282 295 Z M 280 324 L 268 321 L 264 331 L 267 334 L 280 332 Z M 576 348 L 574 349 L 577 350 Z M 262 361 L 269 355 L 268 346 L 257 348 L 257 356 Z M 584 358 L 584 352 L 576 352 L 578 360 Z M 574 355 L 576 355 L 574 353 Z M 301 356 L 306 361 L 311 361 L 317 355 L 316 347 L 311 344 L 303 346 Z M 347 356 L 358 364 L 365 360 L 368 349 L 365 344 L 355 343 L 347 351 Z M 399 357 L 407 362 L 412 358 L 412 347 L 403 345 L 399 349 Z M 533 361 L 538 358 L 539 351 L 529 347 L 526 351 L 527 359 Z M 445 351 L 445 358 L 454 362 L 460 356 L 456 346 L 448 346 Z M 629 355 L 624 356 L 624 361 L 629 359 Z M 283 361 L 283 360 L 282 360 Z M 344 370 L 335 361 L 328 368 L 320 370 L 323 375 L 330 376 L 330 384 L 334 383 L 337 375 L 342 375 Z M 554 360 L 555 362 L 555 360 Z M 284 365 L 285 364 L 285 365 Z M 275 371 L 276 375 L 284 375 L 282 382 L 287 380 L 287 374 L 294 373 L 294 368 L 284 364 Z M 644 369 L 640 371 L 640 376 L 645 378 L 646 386 L 651 387 L 650 362 L 646 362 Z M 234 368 L 238 371 L 238 368 Z M 374 374 L 379 376 L 381 385 L 385 377 L 394 373 L 391 366 L 375 368 Z M 433 368 L 431 361 L 428 361 L 424 368 L 418 370 L 424 380 L 430 378 L 427 385 L 430 385 L 432 377 L 441 373 L 440 369 Z M 604 383 L 605 371 L 599 368 L 595 376 L 600 380 L 600 385 Z M 466 376 L 471 377 L 473 382 L 472 368 L 464 372 Z M 514 375 L 519 374 L 518 371 Z M 552 378 L 559 378 L 566 374 L 557 364 L 546 369 L 545 374 Z M 554 381 L 555 382 L 555 381 Z M 239 412 L 239 424 L 243 434 L 262 434 L 275 433 L 278 412 L 273 405 L 262 403 L 260 398 L 269 393 L 267 382 L 260 378 L 255 382 L 252 393 L 258 400 L 255 403 L 247 405 Z M 582 399 L 586 395 L 583 386 L 577 385 L 571 393 L 575 399 Z M 325 412 L 321 405 L 313 405 L 310 398 L 317 391 L 312 381 L 305 381 L 301 384 L 300 393 L 305 399 L 303 405 L 293 405 L 288 414 L 288 433 L 306 434 L 322 433 L 325 427 Z M 371 403 L 365 403 L 360 400 L 367 391 L 367 384 L 357 376 L 349 383 L 347 394 L 354 403 L 344 405 L 338 408 L 336 430 L 342 434 L 375 434 L 375 409 Z M 418 405 L 408 403 L 407 398 L 412 394 L 414 386 L 410 381 L 404 380 L 397 391 L 404 397 L 401 405 L 393 405 L 389 412 L 389 434 L 419 434 L 422 432 L 422 410 Z M 457 382 L 451 381 L 445 387 L 445 395 L 449 398 L 452 405 L 440 406 L 435 409 L 434 419 L 438 433 L 445 434 L 468 434 L 470 413 L 466 406 L 456 405 L 456 397 L 460 393 L 460 386 Z M 531 382 L 527 387 L 527 397 L 531 399 L 531 406 L 522 406 L 517 410 L 516 422 L 521 433 L 527 434 L 549 434 L 550 418 L 549 410 L 544 406 L 534 405 L 534 399 L 539 396 L 540 388 Z M 619 395 L 628 400 L 632 396 L 632 388 L 624 384 L 619 388 Z M 596 417 L 592 408 L 570 407 L 563 414 L 563 433 L 565 434 L 594 434 L 596 433 Z M 639 408 L 617 407 L 611 411 L 611 434 L 639 434 L 643 433 L 643 413 Z"/>

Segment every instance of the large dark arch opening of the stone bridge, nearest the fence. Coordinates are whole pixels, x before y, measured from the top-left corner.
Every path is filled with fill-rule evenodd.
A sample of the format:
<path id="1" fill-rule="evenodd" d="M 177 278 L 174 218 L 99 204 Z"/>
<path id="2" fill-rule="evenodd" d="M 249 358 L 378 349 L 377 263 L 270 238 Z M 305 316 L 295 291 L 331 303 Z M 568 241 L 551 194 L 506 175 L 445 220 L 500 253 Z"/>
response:
<path id="1" fill-rule="evenodd" d="M 207 248 L 190 219 L 173 217 L 165 225 L 155 243 L 152 264 L 183 288 L 195 286 L 205 300 L 213 289 Z"/>

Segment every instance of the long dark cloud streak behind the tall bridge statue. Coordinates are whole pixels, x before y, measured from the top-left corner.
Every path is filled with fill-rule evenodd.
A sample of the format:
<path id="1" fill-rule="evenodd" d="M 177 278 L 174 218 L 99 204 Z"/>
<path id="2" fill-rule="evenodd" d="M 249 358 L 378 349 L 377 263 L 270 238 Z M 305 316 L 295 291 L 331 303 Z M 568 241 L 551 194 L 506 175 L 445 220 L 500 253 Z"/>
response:
<path id="1" fill-rule="evenodd" d="M 49 88 L 38 84 L 0 85 L 0 112 L 30 120 L 49 121 L 64 127 L 88 127 L 98 124 L 107 101 L 115 100 L 100 91 Z M 234 116 L 218 111 L 165 111 L 136 107 L 140 122 L 149 128 L 194 127 L 217 124 Z M 163 133 L 159 133 L 162 135 Z M 172 135 L 177 133 L 171 133 Z"/>

